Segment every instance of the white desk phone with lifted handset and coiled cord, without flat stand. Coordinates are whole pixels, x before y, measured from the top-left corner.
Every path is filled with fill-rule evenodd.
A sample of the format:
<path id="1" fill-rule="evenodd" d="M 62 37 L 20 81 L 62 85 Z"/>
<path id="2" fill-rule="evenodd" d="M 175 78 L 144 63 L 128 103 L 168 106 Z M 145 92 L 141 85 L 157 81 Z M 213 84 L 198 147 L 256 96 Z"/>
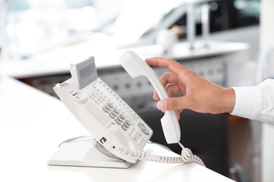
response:
<path id="1" fill-rule="evenodd" d="M 168 97 L 154 71 L 133 51 L 124 52 L 119 62 L 133 78 L 146 76 L 160 99 Z M 53 90 L 91 133 L 97 144 L 108 152 L 130 163 L 141 159 L 168 163 L 197 162 L 204 165 L 188 148 L 180 144 L 181 132 L 174 111 L 166 112 L 161 122 L 167 143 L 180 144 L 183 148 L 183 158 L 157 157 L 143 153 L 141 151 L 152 136 L 152 130 L 128 104 L 98 78 L 94 58 L 89 57 L 83 62 L 71 64 L 70 72 L 72 78 L 56 84 Z"/>

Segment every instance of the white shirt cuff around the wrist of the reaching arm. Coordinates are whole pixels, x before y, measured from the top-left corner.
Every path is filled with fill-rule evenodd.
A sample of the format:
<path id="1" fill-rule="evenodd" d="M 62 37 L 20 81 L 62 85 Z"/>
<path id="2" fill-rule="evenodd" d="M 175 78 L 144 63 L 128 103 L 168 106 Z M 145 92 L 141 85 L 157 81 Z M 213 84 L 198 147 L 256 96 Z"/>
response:
<path id="1" fill-rule="evenodd" d="M 262 105 L 262 93 L 260 87 L 233 87 L 235 91 L 235 106 L 230 113 L 251 120 L 259 118 Z"/>

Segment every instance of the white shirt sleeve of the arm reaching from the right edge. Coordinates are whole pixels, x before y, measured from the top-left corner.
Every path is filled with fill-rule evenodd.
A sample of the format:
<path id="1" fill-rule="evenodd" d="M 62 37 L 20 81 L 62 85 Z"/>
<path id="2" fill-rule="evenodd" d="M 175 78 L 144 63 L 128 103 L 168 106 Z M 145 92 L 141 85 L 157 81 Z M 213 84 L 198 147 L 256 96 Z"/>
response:
<path id="1" fill-rule="evenodd" d="M 264 80 L 258 86 L 233 89 L 236 101 L 231 115 L 274 122 L 274 79 Z"/>

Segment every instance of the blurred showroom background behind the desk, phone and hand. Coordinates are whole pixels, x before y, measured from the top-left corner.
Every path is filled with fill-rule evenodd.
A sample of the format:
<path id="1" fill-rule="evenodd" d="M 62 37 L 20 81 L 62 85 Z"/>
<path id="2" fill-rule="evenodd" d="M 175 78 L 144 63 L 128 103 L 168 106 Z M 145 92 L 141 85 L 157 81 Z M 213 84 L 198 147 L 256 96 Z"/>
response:
<path id="1" fill-rule="evenodd" d="M 152 127 L 152 141 L 167 145 L 152 86 L 130 78 L 119 55 L 171 57 L 224 87 L 257 85 L 273 77 L 273 7 L 268 0 L 0 0 L 0 73 L 57 97 L 52 87 L 70 78 L 70 62 L 94 56 L 98 76 Z M 209 169 L 272 181 L 269 125 L 193 111 L 180 123 L 182 143 Z"/>

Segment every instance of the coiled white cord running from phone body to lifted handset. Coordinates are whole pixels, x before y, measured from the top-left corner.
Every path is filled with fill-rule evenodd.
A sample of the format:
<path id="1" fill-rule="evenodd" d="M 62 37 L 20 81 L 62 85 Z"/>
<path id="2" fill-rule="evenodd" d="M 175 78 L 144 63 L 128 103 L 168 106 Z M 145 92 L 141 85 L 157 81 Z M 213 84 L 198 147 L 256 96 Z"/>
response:
<path id="1" fill-rule="evenodd" d="M 118 147 L 113 146 L 112 151 L 114 153 L 119 153 L 120 155 L 127 155 L 137 160 L 147 160 L 147 161 L 162 162 L 162 163 L 181 163 L 181 164 L 195 162 L 198 165 L 205 166 L 204 162 L 202 162 L 202 160 L 196 155 L 193 155 L 193 153 L 190 151 L 189 148 L 185 148 L 180 142 L 178 144 L 183 149 L 181 153 L 181 157 L 168 157 L 168 156 L 157 155 L 153 153 L 135 151 L 133 149 L 124 148 L 122 146 L 118 146 Z"/>

